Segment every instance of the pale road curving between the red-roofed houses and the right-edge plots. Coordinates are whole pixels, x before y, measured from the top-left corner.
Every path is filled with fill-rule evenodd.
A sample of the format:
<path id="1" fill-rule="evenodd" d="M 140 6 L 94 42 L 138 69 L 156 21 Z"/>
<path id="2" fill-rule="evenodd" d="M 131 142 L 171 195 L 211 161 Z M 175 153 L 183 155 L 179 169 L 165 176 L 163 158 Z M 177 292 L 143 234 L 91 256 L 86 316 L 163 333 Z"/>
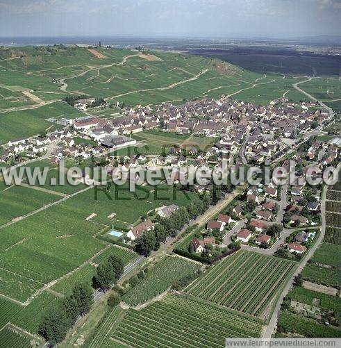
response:
<path id="1" fill-rule="evenodd" d="M 284 300 L 284 297 L 288 295 L 288 292 L 290 291 L 290 288 L 292 287 L 292 284 L 294 283 L 294 279 L 301 273 L 303 268 L 306 266 L 308 260 L 313 256 L 315 250 L 319 247 L 321 244 L 323 238 L 324 238 L 324 233 L 326 231 L 326 189 L 327 187 L 324 186 L 324 190 L 322 192 L 322 201 L 321 201 L 321 215 L 322 215 L 322 224 L 321 224 L 321 233 L 319 233 L 319 236 L 317 238 L 317 241 L 311 247 L 306 256 L 301 260 L 299 263 L 299 267 L 294 271 L 294 274 L 292 274 L 292 277 L 290 281 L 288 281 L 287 285 L 285 285 L 285 288 L 283 289 L 281 296 L 279 297 L 277 304 L 274 308 L 274 312 L 272 313 L 272 316 L 270 318 L 269 324 L 267 325 L 267 329 L 264 334 L 264 338 L 271 338 L 272 334 L 274 333 L 276 329 L 276 324 L 277 324 L 277 317 L 278 317 L 278 312 L 281 309 L 281 304 Z"/>

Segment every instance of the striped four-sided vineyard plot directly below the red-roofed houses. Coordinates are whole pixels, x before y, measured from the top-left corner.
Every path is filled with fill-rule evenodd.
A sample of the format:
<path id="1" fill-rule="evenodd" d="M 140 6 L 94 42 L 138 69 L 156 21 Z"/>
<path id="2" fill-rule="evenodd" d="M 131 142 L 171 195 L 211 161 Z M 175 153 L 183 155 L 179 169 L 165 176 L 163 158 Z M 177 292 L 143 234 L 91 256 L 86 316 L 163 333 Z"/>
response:
<path id="1" fill-rule="evenodd" d="M 287 260 L 238 251 L 196 279 L 186 291 L 261 317 L 293 267 Z"/>

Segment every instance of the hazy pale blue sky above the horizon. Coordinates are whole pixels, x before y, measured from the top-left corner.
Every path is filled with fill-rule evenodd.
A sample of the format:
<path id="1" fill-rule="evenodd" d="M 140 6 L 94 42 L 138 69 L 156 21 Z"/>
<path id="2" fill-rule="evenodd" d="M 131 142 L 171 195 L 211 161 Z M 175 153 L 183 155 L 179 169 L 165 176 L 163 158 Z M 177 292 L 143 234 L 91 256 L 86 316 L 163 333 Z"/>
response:
<path id="1" fill-rule="evenodd" d="M 341 0 L 0 0 L 0 36 L 341 35 Z"/>

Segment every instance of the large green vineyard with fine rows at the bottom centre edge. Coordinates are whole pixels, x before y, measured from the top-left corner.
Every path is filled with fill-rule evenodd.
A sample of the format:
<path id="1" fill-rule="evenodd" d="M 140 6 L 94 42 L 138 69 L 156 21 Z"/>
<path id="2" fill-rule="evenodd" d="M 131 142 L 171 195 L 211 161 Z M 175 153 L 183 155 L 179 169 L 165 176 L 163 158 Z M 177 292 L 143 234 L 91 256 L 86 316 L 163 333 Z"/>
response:
<path id="1" fill-rule="evenodd" d="M 168 295 L 128 310 L 112 337 L 130 347 L 224 347 L 225 338 L 258 337 L 262 322 L 192 297 Z"/>

